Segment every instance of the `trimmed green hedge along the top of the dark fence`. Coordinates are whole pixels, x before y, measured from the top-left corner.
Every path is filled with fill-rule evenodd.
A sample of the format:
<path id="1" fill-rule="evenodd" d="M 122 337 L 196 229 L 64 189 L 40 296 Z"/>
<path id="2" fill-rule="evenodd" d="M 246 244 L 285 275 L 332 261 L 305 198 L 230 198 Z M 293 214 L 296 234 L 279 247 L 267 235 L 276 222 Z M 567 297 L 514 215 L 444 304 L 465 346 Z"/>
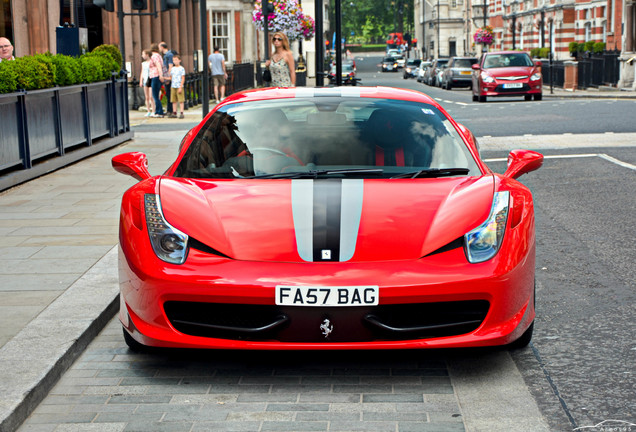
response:
<path id="1" fill-rule="evenodd" d="M 51 53 L 19 57 L 0 62 L 0 93 L 105 81 L 120 70 L 121 53 L 114 45 L 100 45 L 80 57 Z"/>

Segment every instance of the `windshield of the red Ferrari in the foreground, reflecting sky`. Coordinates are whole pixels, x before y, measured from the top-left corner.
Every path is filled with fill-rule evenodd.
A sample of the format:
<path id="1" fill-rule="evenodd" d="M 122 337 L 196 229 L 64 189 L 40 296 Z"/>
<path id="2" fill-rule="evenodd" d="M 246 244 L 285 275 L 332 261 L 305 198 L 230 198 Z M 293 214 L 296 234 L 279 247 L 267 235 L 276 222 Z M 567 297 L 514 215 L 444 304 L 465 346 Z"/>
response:
<path id="1" fill-rule="evenodd" d="M 447 168 L 465 170 L 446 170 L 444 175 L 481 174 L 457 130 L 435 107 L 319 97 L 220 108 L 193 139 L 175 176 L 388 178 Z"/>

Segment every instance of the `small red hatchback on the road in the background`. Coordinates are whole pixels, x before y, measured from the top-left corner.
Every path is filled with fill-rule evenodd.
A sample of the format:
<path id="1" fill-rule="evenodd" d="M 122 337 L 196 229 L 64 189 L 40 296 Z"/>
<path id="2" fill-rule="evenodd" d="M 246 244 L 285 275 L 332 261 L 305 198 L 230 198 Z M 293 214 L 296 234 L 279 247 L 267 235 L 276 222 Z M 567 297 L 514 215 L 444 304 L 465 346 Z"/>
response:
<path id="1" fill-rule="evenodd" d="M 491 96 L 523 96 L 541 100 L 541 61 L 532 61 L 520 51 L 484 53 L 473 66 L 473 101 L 486 102 Z"/>

